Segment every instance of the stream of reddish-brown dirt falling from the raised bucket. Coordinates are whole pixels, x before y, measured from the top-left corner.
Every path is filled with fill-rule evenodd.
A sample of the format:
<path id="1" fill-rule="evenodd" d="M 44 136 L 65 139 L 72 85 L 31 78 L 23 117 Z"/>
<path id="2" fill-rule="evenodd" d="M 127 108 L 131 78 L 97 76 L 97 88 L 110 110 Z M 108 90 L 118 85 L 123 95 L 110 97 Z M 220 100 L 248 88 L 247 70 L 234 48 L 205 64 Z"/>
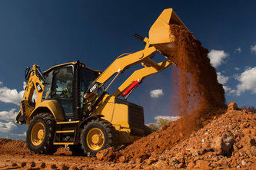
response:
<path id="1" fill-rule="evenodd" d="M 210 64 L 208 50 L 184 27 L 170 25 L 170 29 L 177 46 L 177 54 L 171 57 L 177 66 L 172 69 L 176 112 L 185 116 L 194 110 L 201 113 L 204 109 L 225 108 L 224 89 Z"/>

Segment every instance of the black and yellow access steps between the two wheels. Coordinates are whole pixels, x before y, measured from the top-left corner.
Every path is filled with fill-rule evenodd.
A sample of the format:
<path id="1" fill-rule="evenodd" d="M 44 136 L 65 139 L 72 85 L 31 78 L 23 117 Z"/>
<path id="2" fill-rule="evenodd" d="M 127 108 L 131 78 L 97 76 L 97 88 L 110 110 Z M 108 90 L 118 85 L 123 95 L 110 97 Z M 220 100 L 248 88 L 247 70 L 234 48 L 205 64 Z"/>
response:
<path id="1" fill-rule="evenodd" d="M 54 137 L 54 145 L 75 145 L 78 137 L 80 121 L 58 122 Z"/>

